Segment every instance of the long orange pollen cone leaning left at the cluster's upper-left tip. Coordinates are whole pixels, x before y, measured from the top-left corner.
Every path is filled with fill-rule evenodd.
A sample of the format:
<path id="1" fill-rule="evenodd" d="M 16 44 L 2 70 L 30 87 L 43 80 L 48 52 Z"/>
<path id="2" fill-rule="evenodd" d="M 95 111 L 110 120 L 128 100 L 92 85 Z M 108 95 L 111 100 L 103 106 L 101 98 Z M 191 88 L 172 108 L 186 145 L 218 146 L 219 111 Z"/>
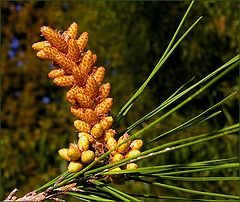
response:
<path id="1" fill-rule="evenodd" d="M 61 34 L 50 27 L 43 26 L 41 27 L 41 33 L 45 37 L 45 39 L 48 40 L 48 42 L 56 47 L 58 50 L 60 50 L 63 53 L 67 53 L 67 42 L 64 41 Z"/>

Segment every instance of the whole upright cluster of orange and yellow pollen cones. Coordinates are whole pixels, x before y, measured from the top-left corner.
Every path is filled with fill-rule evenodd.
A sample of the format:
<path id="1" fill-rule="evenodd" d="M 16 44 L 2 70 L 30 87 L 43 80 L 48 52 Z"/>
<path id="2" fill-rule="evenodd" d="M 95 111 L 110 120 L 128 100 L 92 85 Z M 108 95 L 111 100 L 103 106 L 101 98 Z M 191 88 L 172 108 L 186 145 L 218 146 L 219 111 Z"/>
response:
<path id="1" fill-rule="evenodd" d="M 69 148 L 59 150 L 59 155 L 69 161 L 68 171 L 75 173 L 86 164 L 91 163 L 103 153 L 125 141 L 129 135 L 124 134 L 117 141 L 115 130 L 111 129 L 113 117 L 109 115 L 113 99 L 109 98 L 110 83 L 102 84 L 105 68 L 96 67 L 96 54 L 84 50 L 88 42 L 88 33 L 83 32 L 78 39 L 78 25 L 74 22 L 60 33 L 50 27 L 41 27 L 45 41 L 34 43 L 41 59 L 51 60 L 55 67 L 48 74 L 53 82 L 69 88 L 66 98 L 72 104 L 71 113 L 78 119 L 74 126 L 78 130 L 78 143 L 70 143 Z M 142 140 L 128 141 L 119 146 L 110 155 L 108 163 L 139 154 Z M 122 168 L 136 169 L 135 163 Z"/>

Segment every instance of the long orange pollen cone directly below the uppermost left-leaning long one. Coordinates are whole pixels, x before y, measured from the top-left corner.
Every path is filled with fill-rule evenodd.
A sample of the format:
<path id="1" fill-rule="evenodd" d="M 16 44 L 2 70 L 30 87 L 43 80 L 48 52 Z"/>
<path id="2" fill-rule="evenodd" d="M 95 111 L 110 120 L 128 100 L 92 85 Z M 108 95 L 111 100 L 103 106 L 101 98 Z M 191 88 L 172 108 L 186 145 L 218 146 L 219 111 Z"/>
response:
<path id="1" fill-rule="evenodd" d="M 72 73 L 74 68 L 77 68 L 75 62 L 67 58 L 65 54 L 59 52 L 56 48 L 46 47 L 43 49 L 46 56 L 63 68 L 67 73 Z"/>

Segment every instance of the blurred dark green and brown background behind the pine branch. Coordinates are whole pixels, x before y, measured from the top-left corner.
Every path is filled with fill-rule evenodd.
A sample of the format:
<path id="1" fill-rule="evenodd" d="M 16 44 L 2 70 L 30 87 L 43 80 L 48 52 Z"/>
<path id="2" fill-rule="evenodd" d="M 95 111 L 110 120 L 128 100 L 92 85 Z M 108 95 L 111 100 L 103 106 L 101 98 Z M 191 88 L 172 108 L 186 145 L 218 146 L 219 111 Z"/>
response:
<path id="1" fill-rule="evenodd" d="M 79 34 L 83 31 L 89 33 L 88 48 L 97 54 L 97 66 L 103 65 L 107 69 L 105 81 L 112 86 L 112 114 L 116 115 L 157 64 L 188 4 L 167 1 L 2 2 L 0 200 L 15 187 L 20 189 L 19 195 L 23 195 L 65 171 L 67 164 L 57 151 L 76 140 L 74 116 L 65 99 L 66 89 L 53 85 L 47 76 L 51 63 L 38 59 L 31 48 L 34 42 L 43 40 L 40 27 L 47 25 L 62 31 L 76 22 Z M 183 29 L 186 30 L 201 15 L 202 21 L 154 77 L 118 131 L 157 107 L 193 76 L 199 80 L 237 55 L 239 2 L 196 2 Z M 237 90 L 238 85 L 238 70 L 234 70 L 142 138 L 150 139 L 190 119 Z M 181 132 L 170 140 L 237 123 L 238 101 L 239 97 L 224 104 L 221 107 L 223 113 L 217 118 Z M 150 166 L 235 157 L 238 141 L 237 136 L 226 136 L 140 164 Z M 214 174 L 237 175 L 234 170 Z M 164 182 L 202 191 L 238 194 L 237 183 L 232 182 Z M 135 193 L 151 191 L 157 195 L 189 196 L 137 183 L 118 187 Z"/>

